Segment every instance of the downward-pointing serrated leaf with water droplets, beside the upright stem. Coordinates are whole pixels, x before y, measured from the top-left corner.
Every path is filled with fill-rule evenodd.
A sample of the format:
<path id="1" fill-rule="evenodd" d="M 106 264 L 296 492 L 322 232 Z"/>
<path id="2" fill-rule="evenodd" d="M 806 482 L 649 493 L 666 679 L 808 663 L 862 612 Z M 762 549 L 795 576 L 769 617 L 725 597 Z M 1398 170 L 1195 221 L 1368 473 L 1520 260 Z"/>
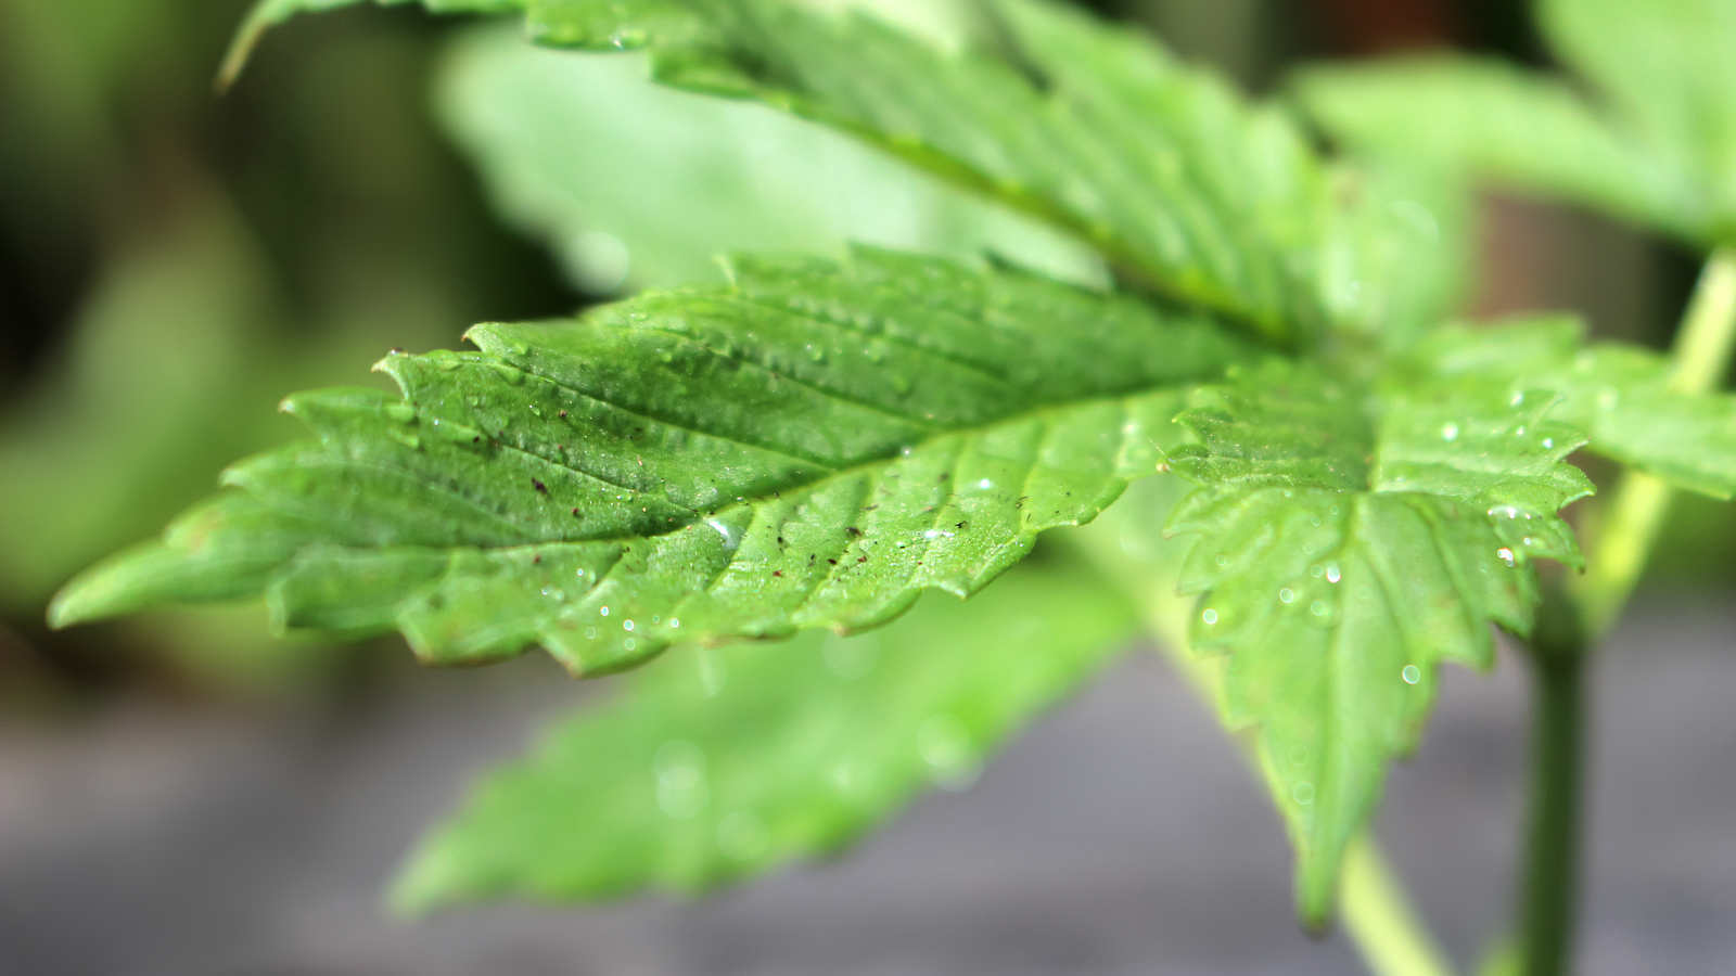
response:
<path id="1" fill-rule="evenodd" d="M 1578 564 L 1557 511 L 1590 493 L 1549 394 L 1474 379 L 1363 389 L 1305 365 L 1236 372 L 1180 420 L 1170 464 L 1201 488 L 1191 644 L 1222 655 L 1224 721 L 1255 748 L 1297 847 L 1304 919 L 1332 910 L 1344 846 L 1410 750 L 1439 662 L 1488 667 L 1489 623 L 1526 632 L 1531 561 Z"/>

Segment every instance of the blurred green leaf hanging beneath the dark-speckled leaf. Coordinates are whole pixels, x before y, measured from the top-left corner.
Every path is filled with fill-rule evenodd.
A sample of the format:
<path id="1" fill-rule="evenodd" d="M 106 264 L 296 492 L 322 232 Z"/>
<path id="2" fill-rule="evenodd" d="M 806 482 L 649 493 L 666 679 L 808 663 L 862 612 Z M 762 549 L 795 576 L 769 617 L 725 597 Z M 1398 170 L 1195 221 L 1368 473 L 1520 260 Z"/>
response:
<path id="1" fill-rule="evenodd" d="M 1113 587 L 1040 557 L 873 634 L 677 650 L 490 773 L 396 901 L 687 893 L 833 853 L 929 783 L 974 781 L 1134 627 Z"/>

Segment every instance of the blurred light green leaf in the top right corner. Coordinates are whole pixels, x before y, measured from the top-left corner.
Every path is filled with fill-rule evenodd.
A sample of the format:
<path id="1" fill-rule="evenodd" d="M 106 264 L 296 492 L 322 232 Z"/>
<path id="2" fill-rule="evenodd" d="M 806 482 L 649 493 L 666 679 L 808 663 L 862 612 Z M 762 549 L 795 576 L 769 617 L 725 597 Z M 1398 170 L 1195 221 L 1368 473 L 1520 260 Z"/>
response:
<path id="1" fill-rule="evenodd" d="M 1316 68 L 1299 80 L 1333 135 L 1453 162 L 1693 243 L 1736 234 L 1736 42 L 1731 0 L 1549 0 L 1543 28 L 1592 97 L 1469 57 Z"/>

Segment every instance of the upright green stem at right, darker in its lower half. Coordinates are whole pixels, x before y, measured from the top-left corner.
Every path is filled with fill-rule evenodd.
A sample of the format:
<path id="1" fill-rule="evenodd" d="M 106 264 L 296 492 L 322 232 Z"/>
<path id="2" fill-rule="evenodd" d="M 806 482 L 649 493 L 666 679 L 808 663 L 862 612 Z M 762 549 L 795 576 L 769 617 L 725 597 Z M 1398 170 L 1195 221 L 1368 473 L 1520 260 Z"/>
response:
<path id="1" fill-rule="evenodd" d="M 1670 353 L 1670 389 L 1708 392 L 1736 346 L 1736 250 L 1706 260 Z M 1663 481 L 1625 471 L 1585 575 L 1552 590 L 1526 650 L 1535 676 L 1521 959 L 1526 976 L 1564 976 L 1578 887 L 1587 651 L 1621 617 L 1670 512 Z"/>

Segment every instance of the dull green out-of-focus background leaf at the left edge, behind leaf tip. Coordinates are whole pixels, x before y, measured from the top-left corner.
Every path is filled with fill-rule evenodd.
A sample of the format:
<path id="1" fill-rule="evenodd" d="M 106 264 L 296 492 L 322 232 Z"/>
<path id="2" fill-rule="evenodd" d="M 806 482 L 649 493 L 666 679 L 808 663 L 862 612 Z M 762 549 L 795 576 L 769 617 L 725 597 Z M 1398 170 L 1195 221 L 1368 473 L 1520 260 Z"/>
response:
<path id="1" fill-rule="evenodd" d="M 80 566 L 196 495 L 238 450 L 271 313 L 252 241 L 215 201 L 123 252 L 59 377 L 0 422 L 0 597 L 40 608 Z M 255 394 L 257 396 L 257 394 Z M 266 399 L 269 403 L 269 399 Z"/>

